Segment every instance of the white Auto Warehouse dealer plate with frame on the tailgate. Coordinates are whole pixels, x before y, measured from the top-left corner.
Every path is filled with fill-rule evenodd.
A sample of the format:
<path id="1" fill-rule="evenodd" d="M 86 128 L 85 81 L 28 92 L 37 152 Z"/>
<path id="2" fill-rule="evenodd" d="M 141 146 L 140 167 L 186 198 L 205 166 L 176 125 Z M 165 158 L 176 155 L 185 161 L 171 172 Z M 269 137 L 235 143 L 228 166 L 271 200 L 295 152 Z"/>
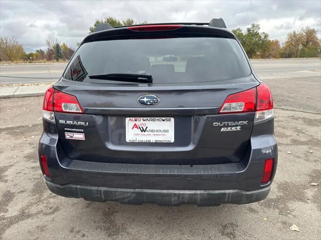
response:
<path id="1" fill-rule="evenodd" d="M 126 118 L 126 142 L 174 142 L 174 118 Z"/>

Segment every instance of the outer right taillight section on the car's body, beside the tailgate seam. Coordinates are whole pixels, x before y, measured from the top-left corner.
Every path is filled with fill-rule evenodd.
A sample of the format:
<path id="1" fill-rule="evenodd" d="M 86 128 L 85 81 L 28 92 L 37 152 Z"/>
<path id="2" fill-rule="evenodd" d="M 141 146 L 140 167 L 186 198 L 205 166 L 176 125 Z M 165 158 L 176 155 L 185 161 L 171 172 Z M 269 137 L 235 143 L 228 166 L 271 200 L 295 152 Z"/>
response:
<path id="1" fill-rule="evenodd" d="M 257 89 L 257 107 L 254 123 L 269 120 L 274 117 L 273 100 L 269 87 L 261 83 Z"/>

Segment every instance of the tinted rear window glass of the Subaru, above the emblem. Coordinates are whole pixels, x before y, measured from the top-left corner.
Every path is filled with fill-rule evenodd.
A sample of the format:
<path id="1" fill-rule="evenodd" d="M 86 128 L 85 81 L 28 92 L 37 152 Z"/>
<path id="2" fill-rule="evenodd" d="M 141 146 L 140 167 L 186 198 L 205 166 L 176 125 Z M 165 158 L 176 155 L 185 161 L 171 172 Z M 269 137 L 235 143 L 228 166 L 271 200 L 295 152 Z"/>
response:
<path id="1" fill-rule="evenodd" d="M 176 84 L 238 79 L 250 75 L 251 70 L 234 39 L 149 38 L 83 44 L 64 77 L 73 81 L 121 83 L 89 78 L 111 73 L 151 74 L 153 84 Z"/>

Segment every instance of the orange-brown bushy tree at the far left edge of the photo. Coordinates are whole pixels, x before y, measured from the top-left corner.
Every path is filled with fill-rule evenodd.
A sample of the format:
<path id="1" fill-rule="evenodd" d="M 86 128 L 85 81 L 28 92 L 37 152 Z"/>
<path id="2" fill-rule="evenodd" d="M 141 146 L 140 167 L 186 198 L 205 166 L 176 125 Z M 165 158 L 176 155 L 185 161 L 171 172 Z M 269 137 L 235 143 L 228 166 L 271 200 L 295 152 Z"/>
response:
<path id="1" fill-rule="evenodd" d="M 23 46 L 17 39 L 0 37 L 0 60 L 1 61 L 18 61 L 25 55 Z"/>

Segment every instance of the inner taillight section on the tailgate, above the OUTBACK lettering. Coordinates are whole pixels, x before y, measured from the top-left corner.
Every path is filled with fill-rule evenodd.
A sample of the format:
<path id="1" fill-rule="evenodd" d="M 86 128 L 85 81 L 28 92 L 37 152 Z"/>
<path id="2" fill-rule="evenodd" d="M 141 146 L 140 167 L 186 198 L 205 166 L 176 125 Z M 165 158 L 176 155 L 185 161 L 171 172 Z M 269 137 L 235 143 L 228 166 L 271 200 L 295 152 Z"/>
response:
<path id="1" fill-rule="evenodd" d="M 231 94 L 225 99 L 219 113 L 254 112 L 255 99 L 255 88 Z"/>

